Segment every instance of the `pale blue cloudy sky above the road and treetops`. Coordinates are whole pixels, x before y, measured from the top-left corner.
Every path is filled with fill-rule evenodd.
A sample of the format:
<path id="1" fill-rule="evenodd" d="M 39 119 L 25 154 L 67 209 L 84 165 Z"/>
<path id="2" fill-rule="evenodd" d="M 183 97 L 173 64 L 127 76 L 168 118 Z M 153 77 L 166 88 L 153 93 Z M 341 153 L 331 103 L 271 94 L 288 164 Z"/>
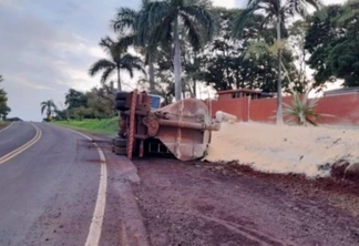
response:
<path id="1" fill-rule="evenodd" d="M 137 9 L 141 0 L 0 0 L 0 84 L 8 92 L 9 116 L 41 121 L 40 103 L 64 109 L 70 88 L 100 85 L 88 70 L 105 54 L 98 43 L 113 35 L 110 20 L 120 7 Z M 214 0 L 215 6 L 245 7 L 247 0 Z M 325 3 L 342 0 L 325 0 Z M 131 84 L 130 78 L 124 80 Z M 131 88 L 129 88 L 131 89 Z"/>

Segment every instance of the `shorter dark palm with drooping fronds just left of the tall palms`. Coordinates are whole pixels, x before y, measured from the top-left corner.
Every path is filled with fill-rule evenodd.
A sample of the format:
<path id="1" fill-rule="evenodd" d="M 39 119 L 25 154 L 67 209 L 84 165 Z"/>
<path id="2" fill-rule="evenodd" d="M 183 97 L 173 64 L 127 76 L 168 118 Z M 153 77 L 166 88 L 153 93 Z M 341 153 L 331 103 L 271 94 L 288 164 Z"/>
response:
<path id="1" fill-rule="evenodd" d="M 101 39 L 100 47 L 109 53 L 110 59 L 101 59 L 91 65 L 89 74 L 94 76 L 100 71 L 103 71 L 101 76 L 101 83 L 105 83 L 109 76 L 116 71 L 117 72 L 117 90 L 122 91 L 121 86 L 121 70 L 126 70 L 130 76 L 133 78 L 134 70 L 144 72 L 142 60 L 126 52 L 127 45 L 124 45 L 123 40 L 114 42 L 111 38 L 106 37 Z"/>

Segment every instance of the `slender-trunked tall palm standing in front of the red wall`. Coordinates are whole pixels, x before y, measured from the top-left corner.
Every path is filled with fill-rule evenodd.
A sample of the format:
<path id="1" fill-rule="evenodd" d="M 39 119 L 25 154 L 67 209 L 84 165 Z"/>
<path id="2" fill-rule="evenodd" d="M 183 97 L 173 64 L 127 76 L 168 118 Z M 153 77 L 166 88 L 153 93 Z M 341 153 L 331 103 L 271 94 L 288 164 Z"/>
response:
<path id="1" fill-rule="evenodd" d="M 248 20 L 256 12 L 265 12 L 266 17 L 261 25 L 271 24 L 277 31 L 278 82 L 277 82 L 277 124 L 283 124 L 281 100 L 281 33 L 286 30 L 285 23 L 288 17 L 299 14 L 306 17 L 307 8 L 311 6 L 317 10 L 322 7 L 320 0 L 248 0 L 247 8 L 242 11 L 233 23 L 233 35 L 240 38 Z"/>

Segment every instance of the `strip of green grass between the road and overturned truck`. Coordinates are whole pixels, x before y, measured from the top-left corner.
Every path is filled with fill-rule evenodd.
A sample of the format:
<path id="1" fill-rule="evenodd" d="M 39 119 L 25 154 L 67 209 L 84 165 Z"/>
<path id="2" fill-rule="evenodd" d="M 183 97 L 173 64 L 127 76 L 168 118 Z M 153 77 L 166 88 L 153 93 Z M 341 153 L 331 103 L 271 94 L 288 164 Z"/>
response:
<path id="1" fill-rule="evenodd" d="M 119 120 L 113 117 L 110 120 L 83 120 L 83 121 L 53 121 L 53 124 L 62 125 L 73 130 L 81 130 L 90 133 L 100 133 L 106 135 L 115 135 L 119 131 Z"/>

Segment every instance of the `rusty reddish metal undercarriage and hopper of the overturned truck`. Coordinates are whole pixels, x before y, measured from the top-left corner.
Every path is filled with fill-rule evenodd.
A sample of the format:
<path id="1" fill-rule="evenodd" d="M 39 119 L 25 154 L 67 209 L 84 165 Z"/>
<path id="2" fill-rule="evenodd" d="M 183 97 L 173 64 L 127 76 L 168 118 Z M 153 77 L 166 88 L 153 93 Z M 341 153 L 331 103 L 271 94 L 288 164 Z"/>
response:
<path id="1" fill-rule="evenodd" d="M 137 90 L 130 93 L 130 110 L 124 113 L 122 126 L 127 134 L 127 157 L 144 155 L 144 141 L 160 140 L 175 157 L 182 161 L 201 158 L 211 141 L 213 124 L 207 105 L 199 100 L 185 99 L 151 111 L 151 96 Z"/>

